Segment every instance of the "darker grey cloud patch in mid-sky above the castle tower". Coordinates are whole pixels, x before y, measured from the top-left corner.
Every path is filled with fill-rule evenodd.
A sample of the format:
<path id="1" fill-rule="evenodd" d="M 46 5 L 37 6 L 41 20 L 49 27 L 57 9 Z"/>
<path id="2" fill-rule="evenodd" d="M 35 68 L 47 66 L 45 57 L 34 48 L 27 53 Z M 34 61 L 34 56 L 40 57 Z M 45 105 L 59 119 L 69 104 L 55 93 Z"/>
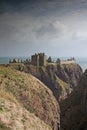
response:
<path id="1" fill-rule="evenodd" d="M 41 22 L 41 24 L 33 30 L 35 32 L 36 38 L 39 39 L 59 39 L 64 37 L 68 29 L 66 25 L 60 21 L 47 21 L 47 23 Z"/>

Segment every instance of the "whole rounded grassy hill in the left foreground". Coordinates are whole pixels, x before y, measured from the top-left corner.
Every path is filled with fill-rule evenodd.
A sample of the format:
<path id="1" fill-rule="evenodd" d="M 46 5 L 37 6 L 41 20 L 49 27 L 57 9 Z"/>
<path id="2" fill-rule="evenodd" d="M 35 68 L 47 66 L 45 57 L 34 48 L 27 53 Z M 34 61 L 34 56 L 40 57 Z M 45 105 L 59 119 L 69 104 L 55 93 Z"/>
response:
<path id="1" fill-rule="evenodd" d="M 31 74 L 0 66 L 0 128 L 58 130 L 59 105 L 53 93 Z"/>

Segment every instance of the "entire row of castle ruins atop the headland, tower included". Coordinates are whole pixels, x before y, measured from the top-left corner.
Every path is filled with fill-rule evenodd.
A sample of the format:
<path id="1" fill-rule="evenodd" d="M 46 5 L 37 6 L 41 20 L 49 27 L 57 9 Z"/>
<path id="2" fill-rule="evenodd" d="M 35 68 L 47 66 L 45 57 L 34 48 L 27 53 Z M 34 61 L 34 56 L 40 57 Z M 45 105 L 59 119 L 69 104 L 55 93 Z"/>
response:
<path id="1" fill-rule="evenodd" d="M 48 59 L 50 60 L 48 61 Z M 67 59 L 67 60 L 60 60 L 59 58 L 57 61 L 52 61 L 51 57 L 46 59 L 45 53 L 38 53 L 31 56 L 31 59 L 26 59 L 25 61 L 22 61 L 20 59 L 10 59 L 9 63 L 24 63 L 25 65 L 34 65 L 34 66 L 46 66 L 47 64 L 76 64 L 76 60 L 74 57 Z"/>

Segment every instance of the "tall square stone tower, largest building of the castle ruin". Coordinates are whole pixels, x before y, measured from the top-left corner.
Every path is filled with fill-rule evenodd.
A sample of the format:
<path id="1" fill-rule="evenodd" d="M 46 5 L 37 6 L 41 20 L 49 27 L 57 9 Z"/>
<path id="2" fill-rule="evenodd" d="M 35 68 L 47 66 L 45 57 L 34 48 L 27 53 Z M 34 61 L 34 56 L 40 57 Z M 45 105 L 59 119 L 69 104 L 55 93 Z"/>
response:
<path id="1" fill-rule="evenodd" d="M 38 53 L 31 56 L 31 64 L 35 66 L 46 65 L 46 55 L 44 53 Z"/>

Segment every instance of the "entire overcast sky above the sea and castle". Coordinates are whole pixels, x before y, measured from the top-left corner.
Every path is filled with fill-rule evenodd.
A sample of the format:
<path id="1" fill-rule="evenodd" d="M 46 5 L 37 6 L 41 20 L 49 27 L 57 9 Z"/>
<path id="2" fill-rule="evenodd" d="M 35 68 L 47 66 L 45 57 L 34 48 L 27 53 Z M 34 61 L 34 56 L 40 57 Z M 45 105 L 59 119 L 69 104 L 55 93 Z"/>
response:
<path id="1" fill-rule="evenodd" d="M 0 56 L 87 57 L 87 0 L 0 0 Z"/>

